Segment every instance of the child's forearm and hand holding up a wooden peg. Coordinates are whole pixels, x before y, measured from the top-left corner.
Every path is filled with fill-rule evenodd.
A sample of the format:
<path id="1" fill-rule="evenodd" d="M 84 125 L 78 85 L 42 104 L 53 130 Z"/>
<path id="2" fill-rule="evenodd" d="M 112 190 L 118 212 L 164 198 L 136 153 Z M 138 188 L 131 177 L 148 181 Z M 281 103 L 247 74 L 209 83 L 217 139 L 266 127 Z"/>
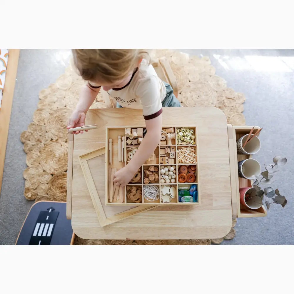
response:
<path id="1" fill-rule="evenodd" d="M 67 129 L 76 128 L 85 125 L 86 113 L 97 97 L 100 88 L 91 88 L 88 84 L 83 86 L 76 109 L 69 118 Z M 87 132 L 87 131 L 86 131 Z M 75 134 L 83 133 L 83 131 L 76 131 Z"/>

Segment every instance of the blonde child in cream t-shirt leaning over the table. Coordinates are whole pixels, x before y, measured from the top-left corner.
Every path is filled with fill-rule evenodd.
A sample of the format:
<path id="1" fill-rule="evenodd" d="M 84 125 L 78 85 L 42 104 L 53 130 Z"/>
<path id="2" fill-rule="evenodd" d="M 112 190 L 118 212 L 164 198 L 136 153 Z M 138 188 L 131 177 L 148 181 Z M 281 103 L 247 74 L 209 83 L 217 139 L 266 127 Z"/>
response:
<path id="1" fill-rule="evenodd" d="M 114 174 L 114 183 L 125 186 L 155 150 L 161 137 L 162 107 L 181 104 L 171 86 L 158 78 L 147 52 L 137 49 L 74 49 L 74 64 L 88 83 L 67 128 L 85 125 L 86 113 L 101 86 L 117 107 L 143 109 L 147 133 L 132 160 Z M 77 131 L 75 134 L 83 133 Z"/>

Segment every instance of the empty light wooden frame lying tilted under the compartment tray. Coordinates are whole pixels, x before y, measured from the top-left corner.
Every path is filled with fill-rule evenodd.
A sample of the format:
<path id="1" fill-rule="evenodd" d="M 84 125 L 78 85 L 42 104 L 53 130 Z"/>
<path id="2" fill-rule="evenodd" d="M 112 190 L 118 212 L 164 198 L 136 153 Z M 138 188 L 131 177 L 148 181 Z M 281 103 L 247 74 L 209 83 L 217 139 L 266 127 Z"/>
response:
<path id="1" fill-rule="evenodd" d="M 97 150 L 91 151 L 89 153 L 86 153 L 84 155 L 79 156 L 79 160 L 80 160 L 80 164 L 81 164 L 81 168 L 83 171 L 83 175 L 84 178 L 86 180 L 86 184 L 91 196 L 91 200 L 93 202 L 99 223 L 101 225 L 101 227 L 104 227 L 106 225 L 110 225 L 112 223 L 118 222 L 120 220 L 123 220 L 125 218 L 128 218 L 130 216 L 133 216 L 136 213 L 139 212 L 143 212 L 143 211 L 147 211 L 147 210 L 151 210 L 152 208 L 154 208 L 154 206 L 145 206 L 145 207 L 141 207 L 141 206 L 136 206 L 135 208 L 131 208 L 127 211 L 123 211 L 121 213 L 118 213 L 116 215 L 113 216 L 108 216 L 106 217 L 106 214 L 103 210 L 103 206 L 101 203 L 101 200 L 99 198 L 89 165 L 88 165 L 88 160 L 95 158 L 97 156 L 101 156 L 105 154 L 105 146 L 101 147 Z M 106 178 L 106 176 L 105 176 Z"/>

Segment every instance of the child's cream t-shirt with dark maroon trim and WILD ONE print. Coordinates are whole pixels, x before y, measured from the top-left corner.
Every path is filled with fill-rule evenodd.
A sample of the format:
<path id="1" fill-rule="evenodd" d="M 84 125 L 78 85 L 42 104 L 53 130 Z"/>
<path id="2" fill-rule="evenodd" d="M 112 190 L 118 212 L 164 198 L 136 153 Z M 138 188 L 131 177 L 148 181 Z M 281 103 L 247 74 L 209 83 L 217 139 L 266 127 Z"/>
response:
<path id="1" fill-rule="evenodd" d="M 151 64 L 147 66 L 142 61 L 141 66 L 134 71 L 131 80 L 125 86 L 110 89 L 108 94 L 122 107 L 143 109 L 143 116 L 147 120 L 162 113 L 161 102 L 166 97 L 166 87 L 153 66 Z"/>

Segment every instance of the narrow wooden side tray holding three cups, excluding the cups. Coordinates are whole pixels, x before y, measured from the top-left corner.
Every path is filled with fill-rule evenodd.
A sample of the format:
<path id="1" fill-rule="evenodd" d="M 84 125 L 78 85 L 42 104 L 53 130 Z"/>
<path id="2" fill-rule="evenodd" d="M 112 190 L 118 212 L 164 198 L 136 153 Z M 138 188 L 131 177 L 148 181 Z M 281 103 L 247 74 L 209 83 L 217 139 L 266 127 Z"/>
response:
<path id="1" fill-rule="evenodd" d="M 240 203 L 239 188 L 251 187 L 253 181 L 238 176 L 238 161 L 251 158 L 251 155 L 237 154 L 237 140 L 242 136 L 249 134 L 253 126 L 231 126 L 228 125 L 228 143 L 230 157 L 231 174 L 231 196 L 232 196 L 232 216 L 233 218 L 251 218 L 266 216 L 267 212 L 264 206 L 258 209 L 249 209 Z M 259 127 L 255 127 L 257 131 Z M 259 134 L 257 135 L 259 136 Z"/>

